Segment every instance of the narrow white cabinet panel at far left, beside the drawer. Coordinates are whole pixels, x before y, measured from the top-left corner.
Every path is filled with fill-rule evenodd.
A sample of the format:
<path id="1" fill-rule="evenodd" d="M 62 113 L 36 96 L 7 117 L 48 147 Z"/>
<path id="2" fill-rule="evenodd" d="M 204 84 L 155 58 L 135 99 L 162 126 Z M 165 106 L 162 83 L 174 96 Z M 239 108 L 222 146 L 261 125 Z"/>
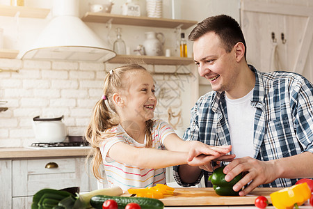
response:
<path id="1" fill-rule="evenodd" d="M 1 206 L 11 208 L 12 206 L 12 160 L 0 160 L 0 197 Z"/>

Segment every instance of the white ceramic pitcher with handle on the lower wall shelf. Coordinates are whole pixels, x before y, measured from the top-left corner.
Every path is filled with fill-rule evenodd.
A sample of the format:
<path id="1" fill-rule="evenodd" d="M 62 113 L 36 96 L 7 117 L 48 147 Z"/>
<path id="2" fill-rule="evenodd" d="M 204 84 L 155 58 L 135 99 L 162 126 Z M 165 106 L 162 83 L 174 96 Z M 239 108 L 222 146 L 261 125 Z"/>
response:
<path id="1" fill-rule="evenodd" d="M 163 33 L 156 33 L 153 31 L 145 32 L 145 41 L 143 47 L 145 47 L 145 55 L 147 56 L 162 56 L 163 44 L 165 42 L 165 36 Z"/>

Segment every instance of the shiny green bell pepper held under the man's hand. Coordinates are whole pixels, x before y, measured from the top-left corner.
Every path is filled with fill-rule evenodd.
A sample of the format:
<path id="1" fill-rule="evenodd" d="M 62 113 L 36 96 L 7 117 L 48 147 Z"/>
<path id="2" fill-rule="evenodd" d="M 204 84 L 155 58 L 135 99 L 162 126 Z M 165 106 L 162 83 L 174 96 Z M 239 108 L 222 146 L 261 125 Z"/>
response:
<path id="1" fill-rule="evenodd" d="M 235 176 L 230 182 L 225 180 L 225 173 L 223 173 L 224 167 L 219 167 L 214 170 L 211 176 L 209 176 L 209 180 L 213 184 L 214 191 L 216 194 L 220 196 L 239 196 L 239 192 L 235 192 L 232 187 L 241 180 L 242 176 L 239 174 Z"/>

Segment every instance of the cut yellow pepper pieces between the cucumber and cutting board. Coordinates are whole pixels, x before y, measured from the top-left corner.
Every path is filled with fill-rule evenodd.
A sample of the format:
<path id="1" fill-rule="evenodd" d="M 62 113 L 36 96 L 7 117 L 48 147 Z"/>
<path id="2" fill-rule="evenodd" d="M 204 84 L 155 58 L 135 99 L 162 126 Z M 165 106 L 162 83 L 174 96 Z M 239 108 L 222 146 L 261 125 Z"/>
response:
<path id="1" fill-rule="evenodd" d="M 129 194 L 137 194 L 138 197 L 150 197 L 162 199 L 164 194 L 174 194 L 174 188 L 167 185 L 157 184 L 154 187 L 128 189 Z"/>

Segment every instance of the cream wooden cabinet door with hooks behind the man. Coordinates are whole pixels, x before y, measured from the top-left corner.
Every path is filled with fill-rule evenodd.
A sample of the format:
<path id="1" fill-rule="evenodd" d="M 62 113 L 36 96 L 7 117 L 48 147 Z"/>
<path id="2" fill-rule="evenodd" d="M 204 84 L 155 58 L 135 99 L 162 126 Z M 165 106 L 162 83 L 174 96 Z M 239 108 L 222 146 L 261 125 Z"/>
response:
<path id="1" fill-rule="evenodd" d="M 309 1 L 241 0 L 248 63 L 260 71 L 298 72 L 313 82 L 313 6 L 307 6 Z"/>

